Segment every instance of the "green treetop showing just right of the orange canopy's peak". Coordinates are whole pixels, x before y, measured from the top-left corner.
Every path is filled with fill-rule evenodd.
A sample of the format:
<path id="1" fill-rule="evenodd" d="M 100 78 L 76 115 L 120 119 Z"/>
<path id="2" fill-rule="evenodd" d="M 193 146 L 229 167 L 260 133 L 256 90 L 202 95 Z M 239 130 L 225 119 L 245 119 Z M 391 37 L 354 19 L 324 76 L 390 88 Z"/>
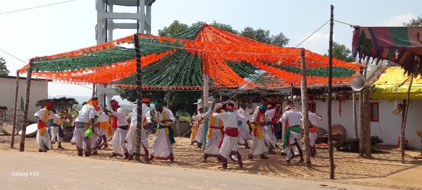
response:
<path id="1" fill-rule="evenodd" d="M 240 35 L 243 37 L 251 38 L 259 42 L 271 44 L 274 46 L 284 47 L 289 44 L 289 38 L 287 38 L 282 32 L 277 35 L 271 35 L 270 31 L 263 29 L 254 30 L 252 27 L 245 27 Z"/>

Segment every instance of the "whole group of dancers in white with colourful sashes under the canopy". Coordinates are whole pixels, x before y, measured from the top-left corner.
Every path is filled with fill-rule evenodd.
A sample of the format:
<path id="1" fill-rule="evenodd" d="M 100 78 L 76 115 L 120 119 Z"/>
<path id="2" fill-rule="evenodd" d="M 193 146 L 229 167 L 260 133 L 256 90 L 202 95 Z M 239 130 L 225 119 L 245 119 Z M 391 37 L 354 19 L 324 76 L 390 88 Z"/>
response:
<path id="1" fill-rule="evenodd" d="M 127 116 L 125 111 L 120 107 L 116 100 L 110 101 L 111 110 L 98 107 L 98 98 L 93 97 L 86 102 L 81 108 L 79 115 L 75 119 L 75 129 L 71 143 L 76 145 L 78 156 L 85 153 L 85 157 L 97 155 L 98 150 L 104 146 L 108 147 L 107 135 L 112 135 L 113 153 L 112 157 L 124 157 L 125 159 L 133 159 L 135 154 L 143 157 L 149 163 L 153 159 L 175 161 L 173 154 L 174 131 L 170 127 L 172 122 L 176 121 L 176 117 L 172 111 L 164 107 L 161 101 L 156 101 L 155 112 L 151 113 L 149 108 L 149 98 L 142 98 L 142 126 L 140 127 L 141 136 L 139 151 L 135 152 L 136 147 L 136 129 L 137 129 L 137 105 L 129 103 L 125 105 L 131 113 Z M 288 105 L 282 114 L 281 105 L 264 105 L 261 104 L 254 111 L 247 113 L 247 104 L 240 104 L 237 110 L 232 103 L 223 103 L 217 101 L 211 110 L 204 113 L 203 108 L 198 109 L 198 113 L 192 117 L 191 144 L 197 143 L 198 147 L 203 146 L 203 138 L 206 138 L 204 146 L 203 161 L 207 162 L 208 158 L 217 158 L 223 163 L 222 168 L 227 168 L 228 159 L 237 162 L 243 167 L 242 155 L 239 145 L 250 148 L 248 159 L 253 160 L 254 156 L 260 159 L 268 159 L 265 154 L 276 154 L 275 148 L 278 148 L 277 124 L 286 122 L 286 132 L 284 135 L 283 151 L 281 155 L 286 155 L 286 164 L 290 164 L 291 160 L 299 156 L 298 163 L 302 163 L 302 138 L 301 127 L 302 112 L 297 111 L 294 104 Z M 51 148 L 51 142 L 55 138 L 59 141 L 59 148 L 63 138 L 60 138 L 61 124 L 69 122 L 65 113 L 53 114 L 53 103 L 46 103 L 46 107 L 35 113 L 38 120 L 37 143 L 40 152 L 47 152 Z M 252 119 L 248 119 L 248 115 L 253 115 Z M 128 119 L 130 118 L 130 124 Z M 209 119 L 209 127 L 204 134 L 204 121 Z M 54 120 L 52 128 L 52 137 L 46 134 L 46 123 L 49 119 Z M 315 156 L 315 139 L 316 139 L 316 120 L 322 120 L 321 116 L 312 110 L 309 110 L 310 127 L 310 146 L 311 156 Z M 112 120 L 112 122 L 110 122 Z M 111 125 L 110 125 L 111 123 Z M 156 127 L 155 127 L 156 125 Z M 155 128 L 155 137 L 152 143 L 151 153 L 149 153 L 147 129 Z M 248 132 L 252 136 L 252 144 L 248 143 Z M 150 133 L 153 130 L 149 130 Z"/>

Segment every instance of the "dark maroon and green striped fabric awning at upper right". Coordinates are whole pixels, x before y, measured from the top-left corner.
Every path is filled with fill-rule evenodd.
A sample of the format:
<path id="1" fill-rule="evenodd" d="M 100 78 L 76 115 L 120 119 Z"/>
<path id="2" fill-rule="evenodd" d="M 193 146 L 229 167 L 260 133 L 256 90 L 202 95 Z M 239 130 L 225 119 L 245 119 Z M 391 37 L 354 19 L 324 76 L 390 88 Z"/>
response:
<path id="1" fill-rule="evenodd" d="M 422 27 L 356 27 L 353 56 L 390 60 L 407 72 L 421 74 Z"/>

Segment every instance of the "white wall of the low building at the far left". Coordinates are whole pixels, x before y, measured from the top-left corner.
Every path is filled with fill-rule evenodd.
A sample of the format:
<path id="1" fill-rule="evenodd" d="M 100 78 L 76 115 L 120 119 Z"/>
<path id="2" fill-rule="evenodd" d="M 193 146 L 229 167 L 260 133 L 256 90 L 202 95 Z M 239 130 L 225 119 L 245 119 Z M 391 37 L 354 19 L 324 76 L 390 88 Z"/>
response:
<path id="1" fill-rule="evenodd" d="M 13 109 L 15 101 L 16 79 L 0 78 L 0 106 L 6 106 L 8 109 Z M 17 108 L 20 109 L 21 96 L 25 101 L 26 79 L 19 79 L 19 92 L 17 98 Z M 32 80 L 31 92 L 29 98 L 28 121 L 36 122 L 33 114 L 39 111 L 39 107 L 35 104 L 38 100 L 46 99 L 48 96 L 48 82 Z M 21 114 L 22 111 L 18 111 Z M 7 111 L 7 114 L 13 114 L 13 111 Z M 22 120 L 22 116 L 18 117 L 18 121 Z M 7 118 L 7 121 L 12 121 L 13 117 Z"/>

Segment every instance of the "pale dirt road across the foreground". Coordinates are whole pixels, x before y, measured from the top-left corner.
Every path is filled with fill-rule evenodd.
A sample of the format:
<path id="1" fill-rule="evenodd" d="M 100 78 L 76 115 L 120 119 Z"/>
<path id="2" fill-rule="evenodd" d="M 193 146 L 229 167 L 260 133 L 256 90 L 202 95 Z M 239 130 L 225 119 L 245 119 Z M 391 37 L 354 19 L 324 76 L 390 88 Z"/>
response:
<path id="1" fill-rule="evenodd" d="M 13 159 L 12 159 L 13 158 Z M 0 151 L 1 188 L 14 189 L 308 189 L 383 190 L 347 184 L 110 160 Z M 7 161 L 7 164 L 5 163 Z M 385 189 L 384 189 L 385 190 Z"/>

